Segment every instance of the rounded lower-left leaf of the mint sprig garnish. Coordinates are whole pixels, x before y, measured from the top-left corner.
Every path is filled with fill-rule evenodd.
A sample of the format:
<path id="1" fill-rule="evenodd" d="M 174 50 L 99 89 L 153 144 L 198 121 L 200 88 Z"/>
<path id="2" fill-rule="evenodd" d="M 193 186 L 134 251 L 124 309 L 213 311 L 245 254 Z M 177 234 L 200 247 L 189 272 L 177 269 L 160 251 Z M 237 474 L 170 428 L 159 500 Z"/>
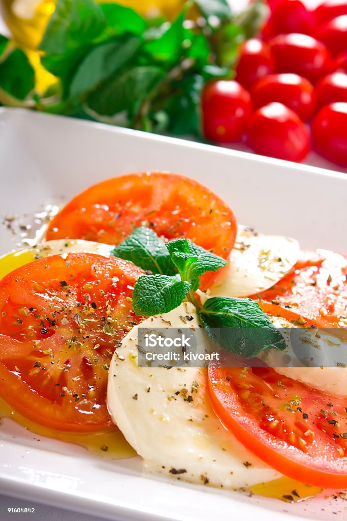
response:
<path id="1" fill-rule="evenodd" d="M 142 275 L 133 291 L 136 315 L 150 317 L 178 307 L 190 289 L 189 282 L 165 275 Z"/>

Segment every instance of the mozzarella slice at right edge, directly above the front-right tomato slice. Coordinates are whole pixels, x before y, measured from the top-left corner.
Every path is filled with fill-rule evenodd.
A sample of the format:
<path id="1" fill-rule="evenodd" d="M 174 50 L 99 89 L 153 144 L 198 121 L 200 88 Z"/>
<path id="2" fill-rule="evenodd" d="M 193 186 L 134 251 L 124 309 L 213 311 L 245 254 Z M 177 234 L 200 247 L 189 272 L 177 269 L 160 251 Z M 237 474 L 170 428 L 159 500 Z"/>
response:
<path id="1" fill-rule="evenodd" d="M 300 328 L 288 320 L 269 317 L 280 328 L 287 349 L 263 353 L 260 357 L 280 375 L 304 383 L 307 387 L 336 396 L 347 396 L 347 345 L 333 328 Z M 293 334 L 294 333 L 294 334 Z M 300 336 L 299 336 L 300 335 Z M 317 367 L 306 367 L 314 357 Z M 332 365 L 336 367 L 331 367 Z M 340 365 L 340 367 L 338 366 Z M 284 367 L 282 367 L 284 366 Z"/>

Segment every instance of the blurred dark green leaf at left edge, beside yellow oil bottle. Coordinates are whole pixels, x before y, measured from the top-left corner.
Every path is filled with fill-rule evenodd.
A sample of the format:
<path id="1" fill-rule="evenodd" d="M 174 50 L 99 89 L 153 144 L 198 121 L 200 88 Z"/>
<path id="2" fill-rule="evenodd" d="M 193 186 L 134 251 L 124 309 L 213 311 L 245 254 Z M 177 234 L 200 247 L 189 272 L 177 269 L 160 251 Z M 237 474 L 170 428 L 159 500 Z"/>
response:
<path id="1" fill-rule="evenodd" d="M 17 100 L 24 100 L 35 85 L 35 72 L 28 57 L 15 49 L 0 64 L 0 88 Z"/>

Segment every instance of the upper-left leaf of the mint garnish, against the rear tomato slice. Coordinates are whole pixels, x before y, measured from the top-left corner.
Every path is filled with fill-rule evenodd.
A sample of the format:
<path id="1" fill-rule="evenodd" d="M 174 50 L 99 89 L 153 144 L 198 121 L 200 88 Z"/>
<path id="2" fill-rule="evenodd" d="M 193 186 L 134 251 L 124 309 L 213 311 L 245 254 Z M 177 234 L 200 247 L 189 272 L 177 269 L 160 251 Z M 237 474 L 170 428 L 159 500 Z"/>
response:
<path id="1" fill-rule="evenodd" d="M 159 239 L 153 230 L 144 226 L 136 228 L 131 235 L 115 246 L 111 255 L 131 261 L 155 274 L 174 275 L 177 271 L 164 241 Z"/>

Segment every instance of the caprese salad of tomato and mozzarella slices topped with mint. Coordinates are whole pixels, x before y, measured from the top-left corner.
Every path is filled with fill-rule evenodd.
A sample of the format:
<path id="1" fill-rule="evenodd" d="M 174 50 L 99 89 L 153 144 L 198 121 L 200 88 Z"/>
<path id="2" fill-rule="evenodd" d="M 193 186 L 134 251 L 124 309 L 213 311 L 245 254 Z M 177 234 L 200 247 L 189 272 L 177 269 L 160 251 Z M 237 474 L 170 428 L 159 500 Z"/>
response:
<path id="1" fill-rule="evenodd" d="M 203 485 L 347 487 L 344 363 L 274 362 L 278 328 L 337 331 L 343 352 L 347 257 L 238 226 L 199 182 L 144 171 L 74 197 L 0 277 L 0 396 L 28 422 L 57 437 L 116 425 L 151 472 Z M 266 328 L 262 351 L 219 339 L 266 363 L 139 367 L 139 327 Z"/>

